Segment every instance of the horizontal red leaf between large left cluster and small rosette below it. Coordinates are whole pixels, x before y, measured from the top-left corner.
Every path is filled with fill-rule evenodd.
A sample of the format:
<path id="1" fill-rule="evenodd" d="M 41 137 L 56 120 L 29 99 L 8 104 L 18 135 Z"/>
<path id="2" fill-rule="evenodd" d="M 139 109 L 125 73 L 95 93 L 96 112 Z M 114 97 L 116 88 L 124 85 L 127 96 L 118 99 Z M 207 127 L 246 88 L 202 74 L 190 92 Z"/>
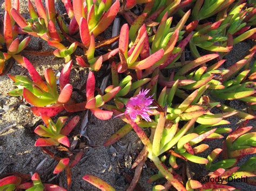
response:
<path id="1" fill-rule="evenodd" d="M 64 110 L 63 105 L 52 105 L 50 107 L 32 107 L 31 111 L 36 116 L 46 115 L 48 117 L 56 116 Z"/>

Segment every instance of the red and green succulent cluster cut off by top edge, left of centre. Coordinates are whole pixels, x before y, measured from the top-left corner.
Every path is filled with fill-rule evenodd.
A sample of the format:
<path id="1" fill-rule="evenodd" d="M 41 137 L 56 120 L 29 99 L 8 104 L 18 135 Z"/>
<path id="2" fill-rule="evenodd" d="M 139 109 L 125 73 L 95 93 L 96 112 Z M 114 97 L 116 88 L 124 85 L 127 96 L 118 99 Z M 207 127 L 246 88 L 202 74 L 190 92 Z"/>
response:
<path id="1" fill-rule="evenodd" d="M 107 27 L 111 25 L 117 12 L 120 8 L 119 1 L 115 1 L 112 4 L 111 0 L 104 1 L 92 1 L 86 0 L 84 3 L 82 0 L 70 0 L 64 1 L 66 11 L 69 15 L 70 24 L 68 30 L 70 34 L 74 34 L 78 30 L 82 35 L 82 41 L 84 44 L 90 44 L 90 36 L 84 36 L 87 31 L 90 35 L 93 33 L 97 37 L 100 33 L 105 31 Z M 112 5 L 111 5 L 112 4 Z"/>

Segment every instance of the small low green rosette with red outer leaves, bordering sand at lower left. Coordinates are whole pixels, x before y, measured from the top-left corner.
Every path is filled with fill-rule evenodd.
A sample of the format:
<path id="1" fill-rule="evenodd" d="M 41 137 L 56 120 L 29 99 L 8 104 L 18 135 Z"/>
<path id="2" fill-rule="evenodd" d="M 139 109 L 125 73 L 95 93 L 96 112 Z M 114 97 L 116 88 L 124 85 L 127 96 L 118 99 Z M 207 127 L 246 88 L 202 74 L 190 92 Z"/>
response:
<path id="1" fill-rule="evenodd" d="M 73 117 L 65 126 L 64 124 L 68 120 L 68 117 L 59 117 L 56 123 L 53 123 L 52 119 L 47 116 L 42 116 L 42 119 L 45 126 L 37 126 L 35 133 L 39 136 L 48 138 L 38 138 L 35 146 L 52 146 L 63 144 L 69 147 L 70 143 L 67 136 L 79 122 L 79 116 Z"/>

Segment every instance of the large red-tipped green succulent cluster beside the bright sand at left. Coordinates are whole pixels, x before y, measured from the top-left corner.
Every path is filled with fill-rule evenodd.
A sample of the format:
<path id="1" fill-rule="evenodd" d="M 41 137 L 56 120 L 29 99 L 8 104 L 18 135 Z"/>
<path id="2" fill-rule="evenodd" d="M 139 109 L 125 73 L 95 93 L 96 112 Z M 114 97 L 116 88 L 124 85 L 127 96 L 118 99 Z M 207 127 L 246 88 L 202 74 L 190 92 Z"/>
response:
<path id="1" fill-rule="evenodd" d="M 48 116 L 53 116 L 53 114 L 56 115 L 56 112 L 58 113 L 62 111 L 64 109 L 62 105 L 70 100 L 72 94 L 72 86 L 69 84 L 69 74 L 72 66 L 72 60 L 66 63 L 62 73 L 60 74 L 60 94 L 58 94 L 57 91 L 56 76 L 51 68 L 46 69 L 44 72 L 46 80 L 45 83 L 30 61 L 25 57 L 23 57 L 23 60 L 32 81 L 28 77 L 21 75 L 9 75 L 10 79 L 14 81 L 14 85 L 17 86 L 17 89 L 9 91 L 8 94 L 11 96 L 23 96 L 26 101 L 35 106 L 35 108 L 32 110 L 33 112 L 35 110 L 36 115 L 38 115 L 39 110 L 47 110 L 47 107 L 45 106 L 49 104 L 55 105 L 52 105 L 49 107 L 49 110 L 47 110 L 49 111 Z M 42 107 L 45 108 L 40 109 Z M 51 114 L 51 112 L 53 113 Z"/>

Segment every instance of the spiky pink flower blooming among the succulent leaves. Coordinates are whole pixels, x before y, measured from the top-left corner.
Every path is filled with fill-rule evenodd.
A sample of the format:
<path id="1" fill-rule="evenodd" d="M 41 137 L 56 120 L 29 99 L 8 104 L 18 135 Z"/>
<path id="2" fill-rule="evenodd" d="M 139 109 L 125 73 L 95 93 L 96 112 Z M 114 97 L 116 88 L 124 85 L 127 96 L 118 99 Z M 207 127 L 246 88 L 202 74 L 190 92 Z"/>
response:
<path id="1" fill-rule="evenodd" d="M 138 95 L 131 97 L 127 102 L 124 114 L 128 114 L 133 121 L 140 116 L 147 122 L 151 122 L 150 114 L 153 113 L 151 109 L 156 107 L 149 107 L 153 103 L 152 96 L 146 97 L 149 91 L 141 90 Z"/>

